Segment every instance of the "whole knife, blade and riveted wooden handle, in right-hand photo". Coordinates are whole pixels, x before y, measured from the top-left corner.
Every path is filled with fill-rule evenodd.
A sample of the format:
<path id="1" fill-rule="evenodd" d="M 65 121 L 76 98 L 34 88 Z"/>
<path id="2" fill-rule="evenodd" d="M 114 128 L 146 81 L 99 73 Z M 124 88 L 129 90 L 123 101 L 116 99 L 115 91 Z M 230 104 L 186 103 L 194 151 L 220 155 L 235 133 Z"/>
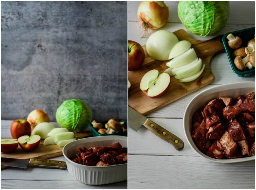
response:
<path id="1" fill-rule="evenodd" d="M 154 123 L 130 106 L 128 107 L 128 124 L 129 127 L 136 132 L 143 125 L 161 139 L 167 141 L 168 143 L 171 143 L 177 150 L 182 150 L 184 147 L 184 142 L 179 137 L 173 135 L 171 132 L 167 131 L 160 125 Z"/>

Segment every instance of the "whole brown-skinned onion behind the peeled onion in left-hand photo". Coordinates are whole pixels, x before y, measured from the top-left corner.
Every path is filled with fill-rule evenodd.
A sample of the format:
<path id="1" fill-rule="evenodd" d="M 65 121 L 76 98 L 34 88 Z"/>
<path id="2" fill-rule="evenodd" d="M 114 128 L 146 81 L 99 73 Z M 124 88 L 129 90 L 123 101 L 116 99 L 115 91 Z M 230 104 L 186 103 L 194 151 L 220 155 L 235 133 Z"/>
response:
<path id="1" fill-rule="evenodd" d="M 50 122 L 50 118 L 46 112 L 40 109 L 35 109 L 28 114 L 27 121 L 31 125 L 31 131 L 33 131 L 37 124 Z"/>

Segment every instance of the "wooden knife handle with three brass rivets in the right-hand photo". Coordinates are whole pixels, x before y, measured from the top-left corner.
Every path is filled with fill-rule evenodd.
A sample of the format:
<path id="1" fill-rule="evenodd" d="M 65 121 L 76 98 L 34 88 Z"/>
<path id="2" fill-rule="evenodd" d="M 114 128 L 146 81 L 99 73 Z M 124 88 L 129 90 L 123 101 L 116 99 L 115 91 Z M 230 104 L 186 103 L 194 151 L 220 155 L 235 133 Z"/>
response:
<path id="1" fill-rule="evenodd" d="M 171 143 L 175 149 L 182 150 L 184 147 L 184 142 L 177 136 L 173 135 L 171 132 L 167 131 L 160 125 L 154 123 L 150 119 L 147 119 L 143 124 L 146 128 L 148 128 L 152 133 L 160 137 L 161 139 Z"/>

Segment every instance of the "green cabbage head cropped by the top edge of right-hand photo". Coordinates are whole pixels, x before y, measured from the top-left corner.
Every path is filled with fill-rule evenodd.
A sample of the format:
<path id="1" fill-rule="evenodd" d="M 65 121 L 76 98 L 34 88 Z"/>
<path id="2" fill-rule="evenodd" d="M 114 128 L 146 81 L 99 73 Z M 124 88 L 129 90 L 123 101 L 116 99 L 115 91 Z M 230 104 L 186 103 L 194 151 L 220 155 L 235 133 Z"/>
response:
<path id="1" fill-rule="evenodd" d="M 193 34 L 215 35 L 225 27 L 229 16 L 228 1 L 180 1 L 178 16 Z"/>

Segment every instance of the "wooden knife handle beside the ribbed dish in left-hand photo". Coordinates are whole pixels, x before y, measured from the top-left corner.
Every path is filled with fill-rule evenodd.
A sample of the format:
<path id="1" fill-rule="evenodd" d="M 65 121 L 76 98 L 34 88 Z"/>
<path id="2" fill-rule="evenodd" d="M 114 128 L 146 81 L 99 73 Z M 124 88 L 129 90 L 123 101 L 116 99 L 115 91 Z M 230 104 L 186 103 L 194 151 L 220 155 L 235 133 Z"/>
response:
<path id="1" fill-rule="evenodd" d="M 67 168 L 67 164 L 64 161 L 39 159 L 39 158 L 31 158 L 29 160 L 29 165 L 40 167 L 40 168 L 56 168 L 61 170 L 66 170 Z"/>

